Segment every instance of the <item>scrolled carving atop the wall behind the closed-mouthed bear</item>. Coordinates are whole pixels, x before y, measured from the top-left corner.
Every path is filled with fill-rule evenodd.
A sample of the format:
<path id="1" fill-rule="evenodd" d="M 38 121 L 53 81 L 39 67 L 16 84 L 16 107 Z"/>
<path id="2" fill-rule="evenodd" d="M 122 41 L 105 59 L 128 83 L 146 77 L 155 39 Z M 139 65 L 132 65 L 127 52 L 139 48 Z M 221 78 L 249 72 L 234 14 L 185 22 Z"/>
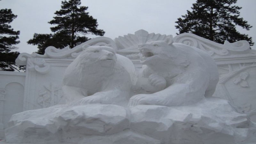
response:
<path id="1" fill-rule="evenodd" d="M 115 42 L 108 37 L 96 37 L 90 39 L 82 44 L 75 46 L 70 49 L 68 46 L 64 49 L 57 49 L 53 46 L 49 46 L 45 49 L 44 55 L 37 53 L 21 53 L 18 58 L 15 60 L 16 64 L 19 66 L 26 65 L 28 58 L 53 58 L 53 59 L 73 59 L 79 55 L 80 52 L 83 51 L 82 47 L 85 45 L 107 45 L 110 44 L 112 47 L 117 50 Z"/>

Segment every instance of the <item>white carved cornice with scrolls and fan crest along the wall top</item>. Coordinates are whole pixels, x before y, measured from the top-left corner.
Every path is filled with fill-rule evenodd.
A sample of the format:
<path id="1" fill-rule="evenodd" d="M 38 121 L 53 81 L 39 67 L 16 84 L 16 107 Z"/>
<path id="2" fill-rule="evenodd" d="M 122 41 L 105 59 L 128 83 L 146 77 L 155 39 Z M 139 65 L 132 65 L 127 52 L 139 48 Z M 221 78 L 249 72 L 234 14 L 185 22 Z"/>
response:
<path id="1" fill-rule="evenodd" d="M 138 30 L 134 34 L 128 34 L 124 36 L 118 36 L 114 40 L 108 37 L 96 37 L 88 40 L 76 47 L 69 49 L 57 49 L 53 46 L 49 46 L 45 49 L 45 54 L 40 55 L 37 53 L 21 53 L 16 59 L 17 65 L 26 65 L 28 58 L 51 58 L 51 59 L 74 59 L 80 52 L 83 51 L 83 46 L 88 45 L 106 45 L 111 44 L 118 54 L 129 57 L 132 60 L 139 60 L 139 53 L 137 46 L 140 43 L 146 43 L 148 40 L 164 40 L 171 35 L 161 35 L 155 33 L 148 33 L 145 30 Z M 245 41 L 237 41 L 235 43 L 229 43 L 226 41 L 224 44 L 218 44 L 208 39 L 196 36 L 191 33 L 183 33 L 173 38 L 175 43 L 188 44 L 193 47 L 197 47 L 207 53 L 209 53 L 216 61 L 218 60 L 233 60 L 238 58 L 252 59 L 256 58 L 256 50 L 250 50 L 250 44 Z M 39 68 L 47 66 L 39 66 Z M 36 68 L 35 68 L 36 69 Z"/>

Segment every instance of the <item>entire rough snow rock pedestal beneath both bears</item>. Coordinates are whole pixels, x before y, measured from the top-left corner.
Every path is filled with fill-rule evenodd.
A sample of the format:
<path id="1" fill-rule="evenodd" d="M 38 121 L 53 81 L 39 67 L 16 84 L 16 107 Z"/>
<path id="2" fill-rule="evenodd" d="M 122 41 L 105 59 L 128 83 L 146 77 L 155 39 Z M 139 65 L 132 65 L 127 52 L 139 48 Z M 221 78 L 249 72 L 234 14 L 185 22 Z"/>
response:
<path id="1" fill-rule="evenodd" d="M 227 100 L 190 106 L 58 105 L 12 116 L 8 143 L 235 144 L 255 142 L 255 127 Z M 253 141 L 254 140 L 254 141 Z"/>

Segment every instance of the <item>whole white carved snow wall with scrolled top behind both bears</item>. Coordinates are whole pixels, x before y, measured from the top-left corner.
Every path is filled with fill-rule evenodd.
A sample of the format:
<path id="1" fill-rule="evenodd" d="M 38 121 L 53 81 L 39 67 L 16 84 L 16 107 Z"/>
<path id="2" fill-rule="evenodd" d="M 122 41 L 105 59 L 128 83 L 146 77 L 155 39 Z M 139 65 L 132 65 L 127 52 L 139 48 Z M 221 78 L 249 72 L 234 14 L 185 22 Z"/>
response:
<path id="1" fill-rule="evenodd" d="M 20 96 L 24 100 L 19 99 L 19 102 L 23 105 L 22 110 L 46 108 L 65 103 L 61 93 L 62 75 L 67 66 L 83 51 L 82 46 L 84 44 L 111 44 L 118 54 L 131 59 L 137 70 L 140 70 L 142 65 L 139 60 L 137 45 L 146 43 L 151 39 L 164 40 L 169 36 L 149 34 L 145 30 L 138 30 L 134 34 L 119 36 L 114 40 L 108 37 L 93 38 L 72 49 L 66 47 L 60 50 L 49 46 L 45 49 L 44 55 L 21 53 L 16 59 L 16 63 L 27 66 L 24 74 L 26 76 L 23 73 L 19 74 L 23 76 L 24 80 L 24 98 L 23 95 Z M 220 81 L 214 96 L 229 100 L 242 113 L 256 112 L 256 51 L 250 50 L 247 41 L 235 43 L 226 41 L 224 44 L 218 44 L 191 33 L 184 33 L 175 36 L 174 42 L 188 44 L 204 50 L 216 61 Z M 2 76 L 2 73 L 0 73 L 0 76 Z M 3 79 L 4 81 L 5 79 L 8 80 L 9 77 L 3 77 Z M 5 87 L 0 87 L 0 90 L 4 90 L 0 92 L 0 102 L 3 102 L 1 96 L 6 96 L 8 92 L 6 92 Z M 15 104 L 10 105 L 15 107 Z"/>

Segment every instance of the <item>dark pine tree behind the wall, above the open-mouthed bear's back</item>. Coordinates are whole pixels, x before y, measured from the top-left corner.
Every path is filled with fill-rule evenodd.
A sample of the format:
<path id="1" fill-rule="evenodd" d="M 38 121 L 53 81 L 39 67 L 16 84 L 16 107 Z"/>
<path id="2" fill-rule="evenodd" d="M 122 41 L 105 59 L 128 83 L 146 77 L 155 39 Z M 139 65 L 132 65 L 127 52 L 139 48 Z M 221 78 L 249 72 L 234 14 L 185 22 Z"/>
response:
<path id="1" fill-rule="evenodd" d="M 243 18 L 239 18 L 237 0 L 197 0 L 193 4 L 192 12 L 178 18 L 175 27 L 181 33 L 193 33 L 211 41 L 223 44 L 225 40 L 233 43 L 247 40 L 252 46 L 252 37 L 241 34 L 236 30 L 236 25 L 246 30 L 252 28 Z"/>

